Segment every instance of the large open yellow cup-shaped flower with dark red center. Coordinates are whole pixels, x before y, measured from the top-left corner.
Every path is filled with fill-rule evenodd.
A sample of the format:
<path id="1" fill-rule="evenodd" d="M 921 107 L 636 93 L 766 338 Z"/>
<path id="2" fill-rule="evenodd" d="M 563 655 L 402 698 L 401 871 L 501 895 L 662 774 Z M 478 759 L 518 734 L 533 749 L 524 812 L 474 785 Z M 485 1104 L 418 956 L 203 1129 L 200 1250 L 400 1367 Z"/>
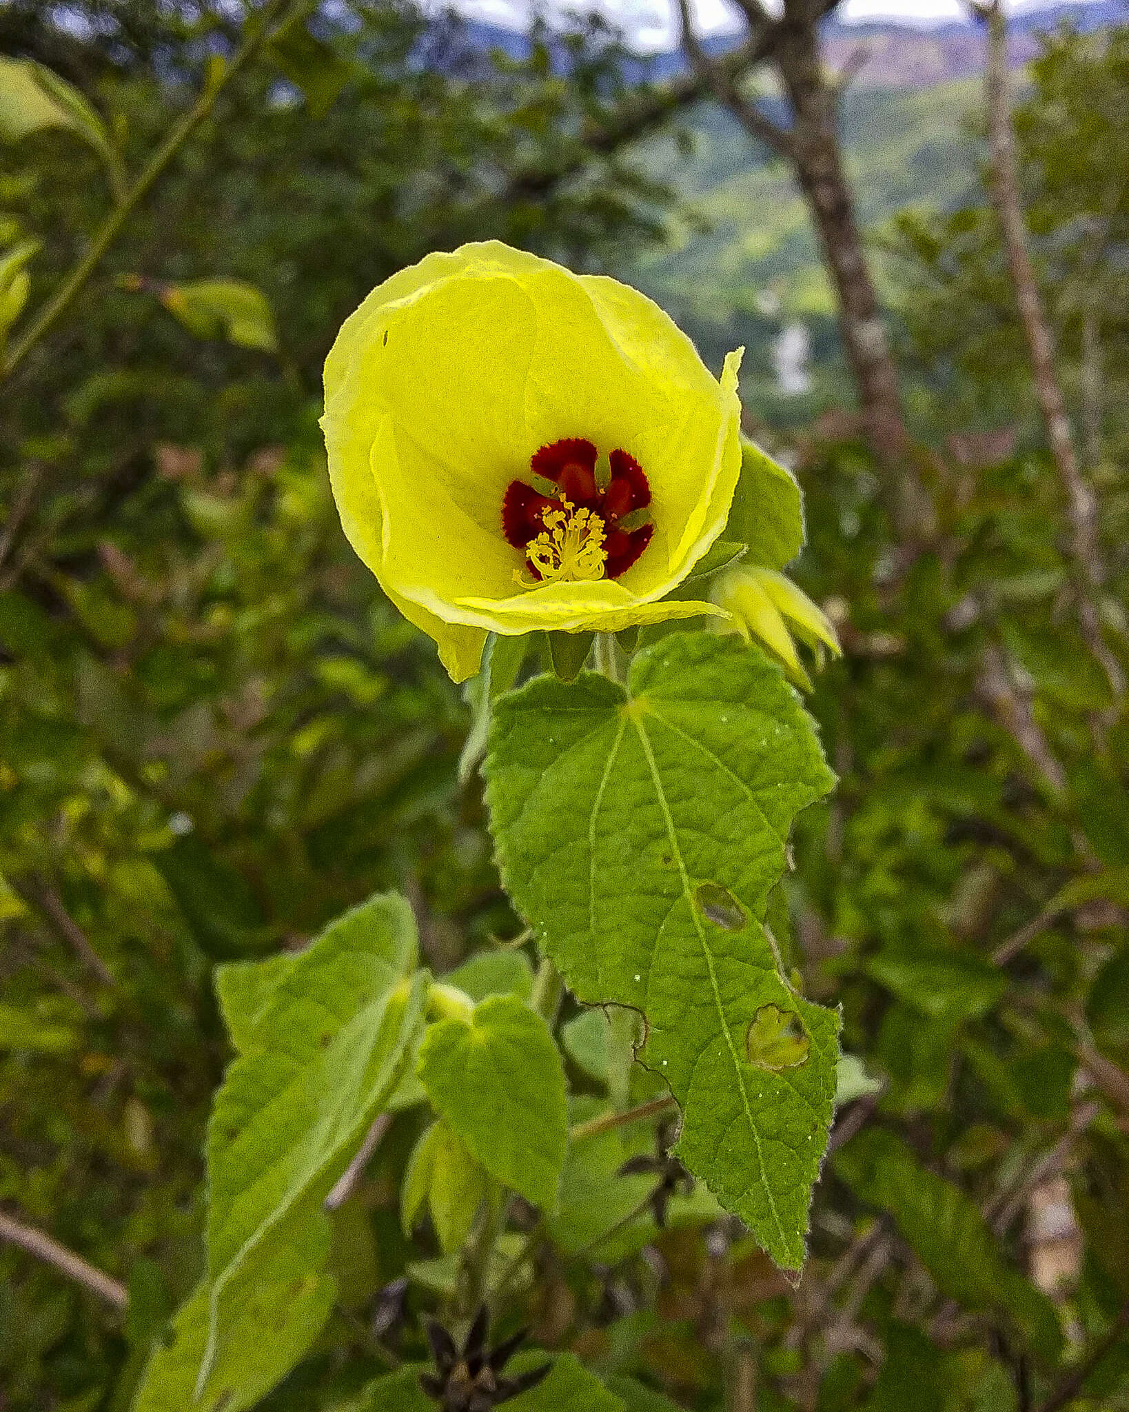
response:
<path id="1" fill-rule="evenodd" d="M 344 531 L 456 681 L 487 633 L 724 617 L 660 600 L 725 525 L 739 361 L 718 383 L 615 280 L 494 240 L 428 256 L 368 295 L 326 359 Z"/>

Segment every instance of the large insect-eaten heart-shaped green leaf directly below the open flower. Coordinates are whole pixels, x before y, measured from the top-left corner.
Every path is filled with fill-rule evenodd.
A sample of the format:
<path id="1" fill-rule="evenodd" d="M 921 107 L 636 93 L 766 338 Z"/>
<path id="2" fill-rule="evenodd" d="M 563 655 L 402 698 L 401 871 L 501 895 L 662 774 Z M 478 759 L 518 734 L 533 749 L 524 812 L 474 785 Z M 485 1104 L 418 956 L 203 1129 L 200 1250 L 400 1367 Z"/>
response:
<path id="1" fill-rule="evenodd" d="M 833 782 L 795 692 L 759 651 L 677 633 L 627 692 L 586 674 L 500 702 L 487 779 L 504 882 L 545 950 L 579 1000 L 644 1012 L 679 1156 L 800 1268 L 838 1017 L 792 990 L 761 925 L 793 816 Z M 749 1053 L 765 1005 L 806 1035 L 803 1063 Z"/>

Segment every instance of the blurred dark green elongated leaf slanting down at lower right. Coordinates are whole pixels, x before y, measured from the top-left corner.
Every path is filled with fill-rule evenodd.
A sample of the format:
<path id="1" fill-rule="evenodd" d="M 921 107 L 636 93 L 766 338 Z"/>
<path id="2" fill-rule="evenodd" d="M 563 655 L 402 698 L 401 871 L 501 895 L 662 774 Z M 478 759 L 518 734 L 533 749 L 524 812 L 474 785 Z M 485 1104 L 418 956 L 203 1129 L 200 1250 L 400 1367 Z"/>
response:
<path id="1" fill-rule="evenodd" d="M 837 1155 L 835 1172 L 893 1217 L 943 1295 L 967 1309 L 1002 1309 L 1047 1360 L 1061 1334 L 1050 1300 L 1003 1258 L 977 1206 L 914 1158 L 892 1132 L 864 1130 Z"/>

